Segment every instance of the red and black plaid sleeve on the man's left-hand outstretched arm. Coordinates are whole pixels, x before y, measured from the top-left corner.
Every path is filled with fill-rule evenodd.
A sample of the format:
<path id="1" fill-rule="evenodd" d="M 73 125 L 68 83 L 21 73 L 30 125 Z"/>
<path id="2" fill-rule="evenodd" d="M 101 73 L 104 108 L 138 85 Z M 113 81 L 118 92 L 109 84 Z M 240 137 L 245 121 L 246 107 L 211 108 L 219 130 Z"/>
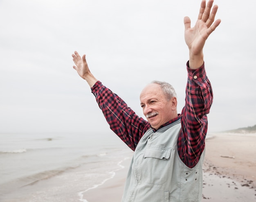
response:
<path id="1" fill-rule="evenodd" d="M 110 129 L 135 150 L 140 138 L 150 128 L 148 121 L 138 117 L 117 94 L 102 85 L 100 81 L 92 87 L 92 93 Z"/>

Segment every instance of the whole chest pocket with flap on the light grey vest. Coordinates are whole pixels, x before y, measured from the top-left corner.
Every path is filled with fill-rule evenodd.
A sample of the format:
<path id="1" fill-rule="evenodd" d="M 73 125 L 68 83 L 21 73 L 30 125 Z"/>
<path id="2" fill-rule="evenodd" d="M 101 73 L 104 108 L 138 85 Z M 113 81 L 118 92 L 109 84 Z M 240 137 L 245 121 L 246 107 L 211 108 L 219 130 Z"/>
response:
<path id="1" fill-rule="evenodd" d="M 141 161 L 141 181 L 162 185 L 167 181 L 170 169 L 171 148 L 148 147 Z"/>

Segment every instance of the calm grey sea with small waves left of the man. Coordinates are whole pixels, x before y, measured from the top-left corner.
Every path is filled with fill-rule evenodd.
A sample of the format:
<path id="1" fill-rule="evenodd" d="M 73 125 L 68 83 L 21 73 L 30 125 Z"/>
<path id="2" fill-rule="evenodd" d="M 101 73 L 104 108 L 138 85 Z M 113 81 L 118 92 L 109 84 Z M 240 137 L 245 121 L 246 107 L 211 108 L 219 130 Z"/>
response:
<path id="1" fill-rule="evenodd" d="M 88 202 L 131 157 L 112 131 L 0 134 L 0 202 Z"/>

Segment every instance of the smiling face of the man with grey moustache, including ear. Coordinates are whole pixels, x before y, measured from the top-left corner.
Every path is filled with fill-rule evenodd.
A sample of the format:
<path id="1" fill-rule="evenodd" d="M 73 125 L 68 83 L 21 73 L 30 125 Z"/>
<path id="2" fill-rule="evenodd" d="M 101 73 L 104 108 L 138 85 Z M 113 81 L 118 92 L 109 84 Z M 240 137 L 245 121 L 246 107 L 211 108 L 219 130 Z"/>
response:
<path id="1" fill-rule="evenodd" d="M 168 101 L 159 84 L 147 85 L 140 94 L 140 102 L 144 116 L 155 129 L 177 117 L 176 98 Z"/>

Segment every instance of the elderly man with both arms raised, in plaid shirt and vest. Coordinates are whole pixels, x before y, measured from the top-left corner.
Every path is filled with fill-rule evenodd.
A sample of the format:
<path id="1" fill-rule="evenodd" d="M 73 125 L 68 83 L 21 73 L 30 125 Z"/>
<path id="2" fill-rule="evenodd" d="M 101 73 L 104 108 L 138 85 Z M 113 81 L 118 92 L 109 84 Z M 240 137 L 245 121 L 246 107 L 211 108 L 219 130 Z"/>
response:
<path id="1" fill-rule="evenodd" d="M 198 202 L 202 198 L 202 161 L 207 133 L 207 114 L 213 94 L 204 69 L 202 49 L 218 27 L 218 7 L 202 0 L 195 27 L 184 18 L 189 47 L 186 103 L 177 114 L 173 87 L 153 81 L 140 94 L 143 113 L 138 117 L 126 103 L 90 72 L 85 55 L 72 54 L 79 76 L 91 87 L 110 128 L 134 155 L 126 179 L 123 202 Z"/>

